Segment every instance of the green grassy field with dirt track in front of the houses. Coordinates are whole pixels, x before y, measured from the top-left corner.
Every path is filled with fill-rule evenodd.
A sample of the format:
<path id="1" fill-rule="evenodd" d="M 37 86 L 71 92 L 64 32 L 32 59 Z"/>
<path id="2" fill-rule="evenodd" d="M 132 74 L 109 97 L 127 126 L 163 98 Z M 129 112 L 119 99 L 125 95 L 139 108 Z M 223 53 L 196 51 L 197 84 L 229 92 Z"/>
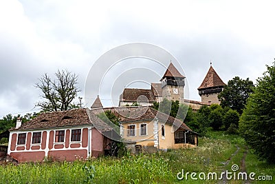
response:
<path id="1" fill-rule="evenodd" d="M 217 172 L 219 178 L 225 170 L 232 172 L 233 164 L 239 166 L 236 174 L 241 171 L 255 172 L 256 176 L 275 176 L 275 165 L 259 161 L 239 136 L 210 132 L 207 138 L 199 139 L 197 148 L 192 149 L 73 163 L 1 165 L 0 183 L 244 183 L 225 178 L 217 181 L 199 179 L 200 172 Z M 180 181 L 177 173 L 182 170 L 184 178 Z M 186 172 L 196 172 L 198 180 L 192 180 L 190 174 L 186 180 Z M 248 183 L 273 182 L 250 180 Z"/>

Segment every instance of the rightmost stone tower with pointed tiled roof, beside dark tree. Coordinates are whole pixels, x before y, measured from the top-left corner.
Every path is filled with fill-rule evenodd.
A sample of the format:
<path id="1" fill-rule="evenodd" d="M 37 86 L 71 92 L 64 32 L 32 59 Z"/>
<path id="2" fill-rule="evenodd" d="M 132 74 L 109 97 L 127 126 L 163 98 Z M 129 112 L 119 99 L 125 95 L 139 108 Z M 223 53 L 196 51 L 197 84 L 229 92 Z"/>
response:
<path id="1" fill-rule="evenodd" d="M 210 63 L 208 73 L 198 88 L 201 102 L 220 104 L 218 95 L 223 90 L 224 85 L 225 83 L 223 83 L 217 72 L 212 68 L 212 63 Z"/>

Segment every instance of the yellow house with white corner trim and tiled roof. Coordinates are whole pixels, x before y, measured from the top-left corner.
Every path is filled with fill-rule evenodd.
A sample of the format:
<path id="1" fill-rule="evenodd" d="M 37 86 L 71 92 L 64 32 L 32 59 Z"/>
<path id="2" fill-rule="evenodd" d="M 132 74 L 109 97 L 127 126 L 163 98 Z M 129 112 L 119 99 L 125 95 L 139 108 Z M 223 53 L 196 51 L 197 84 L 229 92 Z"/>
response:
<path id="1" fill-rule="evenodd" d="M 179 119 L 140 107 L 120 121 L 120 135 L 132 152 L 195 147 L 197 133 Z"/>

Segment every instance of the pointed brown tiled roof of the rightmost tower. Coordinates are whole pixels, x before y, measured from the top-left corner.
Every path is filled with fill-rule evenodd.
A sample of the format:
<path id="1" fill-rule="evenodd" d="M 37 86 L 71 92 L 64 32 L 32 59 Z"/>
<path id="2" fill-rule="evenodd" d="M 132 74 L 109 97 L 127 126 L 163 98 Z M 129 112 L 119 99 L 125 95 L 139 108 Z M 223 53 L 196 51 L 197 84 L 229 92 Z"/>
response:
<path id="1" fill-rule="evenodd" d="M 216 87 L 216 86 L 222 86 L 222 85 L 225 85 L 225 83 L 223 83 L 221 78 L 219 78 L 219 75 L 214 70 L 214 68 L 212 68 L 212 66 L 210 66 L 210 68 L 206 74 L 206 77 L 203 79 L 203 82 L 199 86 L 198 90 L 203 89 L 203 88 L 212 88 L 212 87 Z"/>

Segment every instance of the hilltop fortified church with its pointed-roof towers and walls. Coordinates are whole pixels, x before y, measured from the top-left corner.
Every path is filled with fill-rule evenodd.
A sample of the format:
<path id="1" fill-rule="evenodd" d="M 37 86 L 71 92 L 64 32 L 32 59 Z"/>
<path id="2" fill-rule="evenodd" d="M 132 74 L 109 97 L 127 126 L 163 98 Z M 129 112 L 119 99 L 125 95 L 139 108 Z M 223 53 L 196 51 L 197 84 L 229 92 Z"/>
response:
<path id="1" fill-rule="evenodd" d="M 160 79 L 160 83 L 151 83 L 151 89 L 124 88 L 122 94 L 120 94 L 119 107 L 129 106 L 133 103 L 138 103 L 140 106 L 151 106 L 154 101 L 161 102 L 165 98 L 169 101 L 186 103 L 194 111 L 197 111 L 201 105 L 220 103 L 218 95 L 223 90 L 225 83 L 223 83 L 212 65 L 210 65 L 206 77 L 197 89 L 201 101 L 184 99 L 185 78 L 170 62 L 162 79 Z M 99 96 L 91 108 L 102 108 Z"/>

